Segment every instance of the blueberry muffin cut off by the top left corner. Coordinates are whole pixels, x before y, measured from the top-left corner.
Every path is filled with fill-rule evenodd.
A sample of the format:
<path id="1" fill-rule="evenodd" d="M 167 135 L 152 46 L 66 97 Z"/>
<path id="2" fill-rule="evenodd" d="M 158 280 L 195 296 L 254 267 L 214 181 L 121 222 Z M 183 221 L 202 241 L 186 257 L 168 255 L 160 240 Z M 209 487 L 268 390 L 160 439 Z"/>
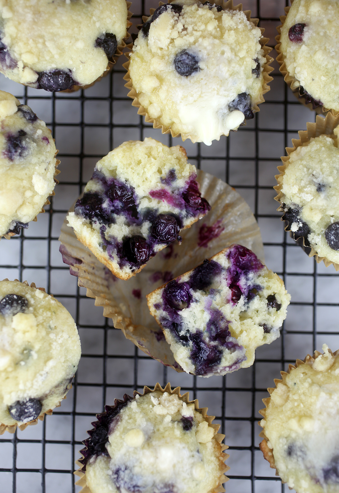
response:
<path id="1" fill-rule="evenodd" d="M 2 1 L 0 71 L 45 91 L 91 84 L 122 47 L 127 15 L 125 0 Z"/>

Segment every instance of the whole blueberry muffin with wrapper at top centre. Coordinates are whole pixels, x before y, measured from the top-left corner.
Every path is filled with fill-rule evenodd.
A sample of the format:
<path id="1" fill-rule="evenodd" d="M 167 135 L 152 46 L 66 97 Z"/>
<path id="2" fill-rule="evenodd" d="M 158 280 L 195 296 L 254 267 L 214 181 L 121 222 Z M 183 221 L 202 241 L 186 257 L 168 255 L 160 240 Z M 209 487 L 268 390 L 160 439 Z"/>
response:
<path id="1" fill-rule="evenodd" d="M 199 0 L 158 7 L 126 65 L 139 113 L 163 132 L 207 145 L 253 118 L 269 90 L 270 49 L 246 14 Z"/>

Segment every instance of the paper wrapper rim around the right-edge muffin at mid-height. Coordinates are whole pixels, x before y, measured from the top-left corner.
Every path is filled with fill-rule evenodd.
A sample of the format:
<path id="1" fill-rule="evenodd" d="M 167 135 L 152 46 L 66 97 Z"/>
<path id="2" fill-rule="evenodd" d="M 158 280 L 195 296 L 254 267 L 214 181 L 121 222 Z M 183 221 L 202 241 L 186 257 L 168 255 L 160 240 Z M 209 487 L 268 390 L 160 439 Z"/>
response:
<path id="1" fill-rule="evenodd" d="M 284 203 L 284 197 L 285 195 L 282 193 L 282 181 L 283 177 L 285 175 L 285 170 L 288 166 L 289 163 L 289 156 L 291 152 L 296 150 L 297 147 L 300 147 L 301 145 L 306 145 L 311 138 L 313 137 L 319 137 L 320 135 L 333 135 L 333 130 L 337 127 L 339 124 L 339 113 L 337 116 L 334 116 L 332 112 L 328 112 L 326 114 L 326 117 L 323 118 L 321 116 L 316 117 L 316 122 L 315 123 L 307 123 L 307 130 L 299 131 L 299 139 L 292 139 L 292 144 L 293 147 L 286 147 L 286 152 L 287 156 L 281 156 L 281 161 L 283 162 L 282 166 L 278 166 L 277 169 L 280 172 L 280 175 L 275 175 L 275 179 L 277 180 L 278 184 L 275 185 L 273 188 L 278 192 L 278 195 L 274 197 L 274 200 L 277 202 L 280 202 L 280 207 L 277 209 L 277 211 L 283 211 L 283 206 L 282 204 Z M 309 257 L 315 257 L 315 260 L 319 264 L 320 262 L 324 262 L 325 267 L 329 267 L 331 264 L 333 264 L 334 268 L 336 271 L 339 271 L 339 264 L 336 264 L 335 262 L 332 262 L 331 260 L 328 260 L 326 257 L 320 257 L 317 253 L 317 251 L 312 247 L 305 245 L 305 238 L 304 237 L 295 237 L 295 234 L 290 230 L 290 224 L 286 219 L 282 219 L 285 222 L 285 231 L 290 231 L 291 236 L 293 239 L 297 242 L 298 245 L 302 246 L 302 248 L 305 250 L 307 255 Z"/>

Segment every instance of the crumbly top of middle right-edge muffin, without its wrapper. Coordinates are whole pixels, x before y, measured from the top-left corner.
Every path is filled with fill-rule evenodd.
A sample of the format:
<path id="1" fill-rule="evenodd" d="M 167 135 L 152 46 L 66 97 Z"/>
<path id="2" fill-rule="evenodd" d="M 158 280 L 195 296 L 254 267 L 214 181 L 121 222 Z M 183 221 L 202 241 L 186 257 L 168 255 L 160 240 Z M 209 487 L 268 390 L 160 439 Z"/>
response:
<path id="1" fill-rule="evenodd" d="M 283 219 L 320 257 L 339 263 L 339 127 L 291 152 L 282 176 Z"/>

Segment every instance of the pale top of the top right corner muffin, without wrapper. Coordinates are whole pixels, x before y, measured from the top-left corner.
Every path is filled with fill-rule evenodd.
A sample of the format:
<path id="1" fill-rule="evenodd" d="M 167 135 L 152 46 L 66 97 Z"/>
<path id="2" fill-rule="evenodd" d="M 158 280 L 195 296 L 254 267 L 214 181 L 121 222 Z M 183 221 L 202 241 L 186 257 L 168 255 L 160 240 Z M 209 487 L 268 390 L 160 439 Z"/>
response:
<path id="1" fill-rule="evenodd" d="M 315 106 L 339 111 L 339 3 L 294 0 L 281 27 L 286 69 Z"/>

